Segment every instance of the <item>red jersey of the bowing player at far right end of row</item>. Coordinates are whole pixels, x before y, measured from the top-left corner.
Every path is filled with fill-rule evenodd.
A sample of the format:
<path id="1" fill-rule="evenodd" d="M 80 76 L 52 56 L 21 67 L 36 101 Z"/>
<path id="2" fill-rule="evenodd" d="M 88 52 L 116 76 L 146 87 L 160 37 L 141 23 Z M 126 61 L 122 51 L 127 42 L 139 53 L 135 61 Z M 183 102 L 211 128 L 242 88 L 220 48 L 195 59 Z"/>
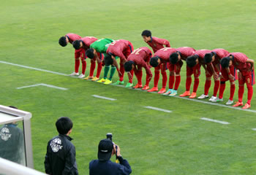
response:
<path id="1" fill-rule="evenodd" d="M 240 71 L 246 71 L 247 69 L 251 68 L 251 64 L 250 63 L 246 63 L 246 61 L 248 60 L 248 57 L 241 52 L 231 52 L 229 55 L 233 55 L 234 60 L 233 60 L 233 64 L 236 67 L 236 69 L 239 69 Z M 229 56 L 226 55 L 226 56 Z"/>

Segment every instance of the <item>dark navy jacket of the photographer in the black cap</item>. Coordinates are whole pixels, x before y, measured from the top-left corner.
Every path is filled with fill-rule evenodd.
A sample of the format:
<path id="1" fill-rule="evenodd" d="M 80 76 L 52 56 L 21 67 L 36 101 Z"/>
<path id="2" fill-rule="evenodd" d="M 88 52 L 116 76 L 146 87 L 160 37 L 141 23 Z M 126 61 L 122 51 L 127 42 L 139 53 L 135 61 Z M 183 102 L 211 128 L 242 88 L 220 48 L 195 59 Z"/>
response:
<path id="1" fill-rule="evenodd" d="M 90 175 L 128 175 L 132 173 L 132 168 L 127 160 L 118 158 L 119 163 L 113 163 L 111 160 L 99 161 L 91 160 L 89 164 Z"/>

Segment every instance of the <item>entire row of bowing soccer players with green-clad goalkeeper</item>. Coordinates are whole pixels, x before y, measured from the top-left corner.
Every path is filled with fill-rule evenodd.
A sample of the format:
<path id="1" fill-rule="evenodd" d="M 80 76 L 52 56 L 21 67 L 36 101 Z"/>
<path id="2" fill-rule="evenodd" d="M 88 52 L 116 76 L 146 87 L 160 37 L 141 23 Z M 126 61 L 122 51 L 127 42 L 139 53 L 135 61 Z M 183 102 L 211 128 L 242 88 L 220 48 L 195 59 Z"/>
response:
<path id="1" fill-rule="evenodd" d="M 183 61 L 187 63 L 187 79 L 186 91 L 180 96 L 189 96 L 195 98 L 197 96 L 197 88 L 199 85 L 200 67 L 206 71 L 206 82 L 204 94 L 199 99 L 208 98 L 208 90 L 211 87 L 211 77 L 214 77 L 214 94 L 209 101 L 223 101 L 223 93 L 225 91 L 225 82 L 230 81 L 230 98 L 227 105 L 233 104 L 233 96 L 235 93 L 235 80 L 237 79 L 236 71 L 238 71 L 238 101 L 233 106 L 243 106 L 244 84 L 248 89 L 246 104 L 242 109 L 248 109 L 251 106 L 253 88 L 255 84 L 254 61 L 247 58 L 241 52 L 228 52 L 224 49 L 214 50 L 195 50 L 192 47 L 170 47 L 170 42 L 166 39 L 159 39 L 151 36 L 151 31 L 145 30 L 141 34 L 143 40 L 152 48 L 154 55 L 148 47 L 140 47 L 133 49 L 131 42 L 119 39 L 97 39 L 93 36 L 81 38 L 77 34 L 67 34 L 59 39 L 61 46 L 70 43 L 75 48 L 75 72 L 70 75 L 78 75 L 79 78 L 85 77 L 86 58 L 91 59 L 91 67 L 89 76 L 84 79 L 92 81 L 104 82 L 108 85 L 112 83 L 113 74 L 118 71 L 118 81 L 115 85 L 124 85 L 124 71 L 127 71 L 129 82 L 126 88 L 133 86 L 133 75 L 138 79 L 138 83 L 133 88 L 142 88 L 148 92 L 158 91 L 158 82 L 160 71 L 162 74 L 162 88 L 158 93 L 167 96 L 176 96 L 178 86 L 181 82 L 181 67 Z M 120 58 L 119 66 L 117 58 Z M 80 60 L 79 60 L 80 59 Z M 79 75 L 78 69 L 82 63 L 82 74 Z M 97 74 L 94 77 L 94 69 L 97 62 Z M 104 76 L 99 79 L 100 72 L 104 68 Z M 154 67 L 154 87 L 149 90 L 149 82 L 152 78 L 151 66 Z M 142 68 L 146 69 L 146 85 L 142 85 Z M 166 91 L 167 73 L 169 69 L 169 89 Z M 108 72 L 110 70 L 110 76 Z M 192 84 L 192 75 L 194 75 L 194 87 L 190 94 L 190 86 Z M 219 90 L 219 97 L 217 92 Z"/>

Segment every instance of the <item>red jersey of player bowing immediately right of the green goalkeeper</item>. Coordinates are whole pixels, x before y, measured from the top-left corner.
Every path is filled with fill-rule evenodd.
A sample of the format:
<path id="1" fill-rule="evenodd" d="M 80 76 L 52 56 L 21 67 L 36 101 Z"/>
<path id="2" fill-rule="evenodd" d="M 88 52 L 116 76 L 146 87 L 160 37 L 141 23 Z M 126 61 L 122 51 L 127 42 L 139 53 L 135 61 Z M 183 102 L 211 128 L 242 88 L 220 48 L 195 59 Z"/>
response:
<path id="1" fill-rule="evenodd" d="M 130 44 L 131 42 L 124 39 L 116 40 L 109 45 L 107 53 L 118 56 L 121 60 L 123 60 L 126 58 L 124 52 L 130 48 Z"/>

